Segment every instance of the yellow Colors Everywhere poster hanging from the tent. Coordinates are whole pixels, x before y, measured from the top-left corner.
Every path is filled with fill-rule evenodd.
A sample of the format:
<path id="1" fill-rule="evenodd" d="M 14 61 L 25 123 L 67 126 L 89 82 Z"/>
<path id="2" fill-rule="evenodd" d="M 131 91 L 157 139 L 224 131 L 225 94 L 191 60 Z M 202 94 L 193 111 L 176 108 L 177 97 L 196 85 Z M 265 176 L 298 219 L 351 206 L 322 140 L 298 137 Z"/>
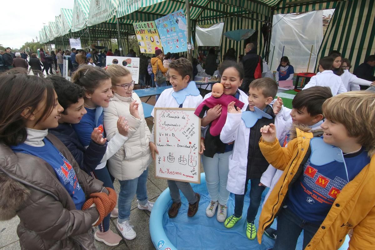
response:
<path id="1" fill-rule="evenodd" d="M 161 47 L 159 32 L 157 32 L 154 21 L 137 22 L 133 24 L 133 27 L 141 53 L 153 54 L 155 47 Z"/>

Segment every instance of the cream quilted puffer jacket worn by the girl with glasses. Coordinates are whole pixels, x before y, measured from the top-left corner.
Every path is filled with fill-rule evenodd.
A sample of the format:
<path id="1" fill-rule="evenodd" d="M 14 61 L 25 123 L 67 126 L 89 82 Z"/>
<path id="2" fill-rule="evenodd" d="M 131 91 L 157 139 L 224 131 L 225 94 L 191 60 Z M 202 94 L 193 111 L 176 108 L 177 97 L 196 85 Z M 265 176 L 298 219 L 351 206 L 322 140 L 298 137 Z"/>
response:
<path id="1" fill-rule="evenodd" d="M 139 103 L 138 112 L 141 119 L 136 119 L 130 114 L 132 99 Z M 108 140 L 118 133 L 117 120 L 120 116 L 126 117 L 129 139 L 108 160 L 108 169 L 118 180 L 133 180 L 139 177 L 151 162 L 151 132 L 144 119 L 142 102 L 136 93 L 133 92 L 132 97 L 122 97 L 115 93 L 108 108 L 104 108 L 104 128 Z"/>

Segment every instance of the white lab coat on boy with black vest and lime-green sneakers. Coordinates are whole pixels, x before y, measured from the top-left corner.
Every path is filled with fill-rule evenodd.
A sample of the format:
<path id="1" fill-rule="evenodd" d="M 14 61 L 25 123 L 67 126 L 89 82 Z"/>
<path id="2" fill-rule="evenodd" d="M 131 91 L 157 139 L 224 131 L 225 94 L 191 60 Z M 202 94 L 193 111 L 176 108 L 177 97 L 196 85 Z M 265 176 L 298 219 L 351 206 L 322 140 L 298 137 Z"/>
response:
<path id="1" fill-rule="evenodd" d="M 245 191 L 246 170 L 248 165 L 250 128 L 245 126 L 242 114 L 228 113 L 225 125 L 220 133 L 220 140 L 224 143 L 234 141 L 233 152 L 229 156 L 229 173 L 226 190 L 237 195 Z M 276 137 L 285 138 L 287 122 L 282 115 L 275 116 Z"/>

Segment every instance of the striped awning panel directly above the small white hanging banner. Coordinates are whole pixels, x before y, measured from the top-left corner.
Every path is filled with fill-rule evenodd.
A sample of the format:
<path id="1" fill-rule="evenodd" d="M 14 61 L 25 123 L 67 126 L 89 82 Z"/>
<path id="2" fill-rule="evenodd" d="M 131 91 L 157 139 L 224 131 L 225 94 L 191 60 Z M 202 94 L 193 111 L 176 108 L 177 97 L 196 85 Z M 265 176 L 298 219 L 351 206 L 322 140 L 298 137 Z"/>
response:
<path id="1" fill-rule="evenodd" d="M 87 19 L 89 18 L 90 12 L 90 2 L 91 0 L 74 0 L 73 22 L 71 28 L 73 32 L 83 30 L 87 27 Z"/>

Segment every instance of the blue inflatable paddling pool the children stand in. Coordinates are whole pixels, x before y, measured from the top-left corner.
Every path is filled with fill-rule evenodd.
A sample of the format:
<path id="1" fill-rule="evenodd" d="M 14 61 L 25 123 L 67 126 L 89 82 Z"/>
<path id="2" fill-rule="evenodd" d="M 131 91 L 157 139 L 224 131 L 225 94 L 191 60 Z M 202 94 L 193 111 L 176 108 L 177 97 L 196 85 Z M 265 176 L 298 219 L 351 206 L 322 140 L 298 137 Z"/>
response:
<path id="1" fill-rule="evenodd" d="M 168 217 L 168 209 L 172 205 L 169 190 L 164 190 L 162 195 L 160 195 L 160 197 L 157 199 L 150 218 L 151 239 L 157 250 L 266 250 L 273 247 L 275 241 L 268 238 L 266 235 L 263 235 L 261 245 L 258 244 L 256 238 L 255 240 L 248 240 L 246 237 L 246 214 L 250 202 L 249 191 L 245 196 L 242 219 L 237 222 L 233 228 L 227 229 L 224 227 L 223 223 L 216 220 L 216 214 L 211 218 L 208 218 L 205 214 L 205 210 L 210 202 L 210 198 L 205 184 L 204 173 L 201 174 L 201 184 L 192 184 L 192 187 L 195 192 L 201 195 L 201 200 L 199 202 L 198 212 L 191 218 L 187 216 L 188 202 L 182 193 L 180 193 L 182 202 L 180 210 L 178 211 L 177 217 L 173 219 Z M 248 190 L 250 190 L 250 182 Z M 264 196 L 266 196 L 268 190 L 268 188 L 264 190 L 261 204 L 263 204 Z M 165 202 L 165 204 L 160 204 L 161 202 Z M 230 216 L 234 213 L 233 193 L 231 193 L 227 205 L 228 216 Z M 261 207 L 259 208 L 257 217 L 255 219 L 257 229 L 260 213 Z M 157 218 L 155 216 L 157 216 Z M 154 223 L 156 221 L 160 222 L 159 216 L 162 217 L 162 225 L 156 225 L 156 223 Z M 272 227 L 276 228 L 276 220 Z M 163 235 L 160 234 L 160 231 L 163 230 L 166 237 L 160 238 L 160 235 Z M 347 237 L 347 241 L 345 241 L 344 245 L 340 249 L 348 248 L 348 239 L 349 237 Z M 302 242 L 303 232 L 298 239 L 297 250 L 302 249 Z"/>

